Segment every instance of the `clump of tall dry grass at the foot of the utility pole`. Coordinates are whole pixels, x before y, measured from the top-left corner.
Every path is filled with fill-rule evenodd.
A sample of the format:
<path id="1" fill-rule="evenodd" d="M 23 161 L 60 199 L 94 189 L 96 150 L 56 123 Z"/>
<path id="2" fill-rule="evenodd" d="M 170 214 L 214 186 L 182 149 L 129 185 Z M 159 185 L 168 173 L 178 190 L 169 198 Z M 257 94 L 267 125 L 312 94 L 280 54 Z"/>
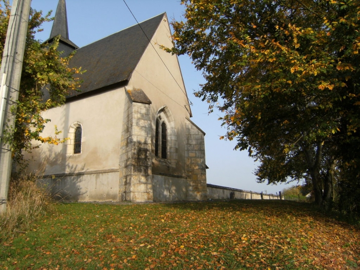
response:
<path id="1" fill-rule="evenodd" d="M 55 202 L 36 175 L 11 179 L 6 212 L 0 216 L 0 239 L 28 230 L 36 219 L 55 211 Z"/>

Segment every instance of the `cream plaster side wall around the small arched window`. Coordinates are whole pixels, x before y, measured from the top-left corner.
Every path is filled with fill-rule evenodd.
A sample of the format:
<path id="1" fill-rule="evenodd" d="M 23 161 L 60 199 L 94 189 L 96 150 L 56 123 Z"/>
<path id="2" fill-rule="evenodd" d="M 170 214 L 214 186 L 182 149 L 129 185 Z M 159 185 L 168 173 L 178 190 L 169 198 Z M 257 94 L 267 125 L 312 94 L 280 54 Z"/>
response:
<path id="1" fill-rule="evenodd" d="M 81 123 L 81 154 L 67 154 L 70 140 L 59 145 L 43 144 L 26 154 L 29 169 L 44 175 L 118 169 L 124 98 L 124 88 L 118 88 L 44 112 L 43 117 L 51 122 L 46 124 L 43 137 L 54 135 L 55 125 L 62 131 L 58 138 L 72 136 L 72 123 Z"/>

